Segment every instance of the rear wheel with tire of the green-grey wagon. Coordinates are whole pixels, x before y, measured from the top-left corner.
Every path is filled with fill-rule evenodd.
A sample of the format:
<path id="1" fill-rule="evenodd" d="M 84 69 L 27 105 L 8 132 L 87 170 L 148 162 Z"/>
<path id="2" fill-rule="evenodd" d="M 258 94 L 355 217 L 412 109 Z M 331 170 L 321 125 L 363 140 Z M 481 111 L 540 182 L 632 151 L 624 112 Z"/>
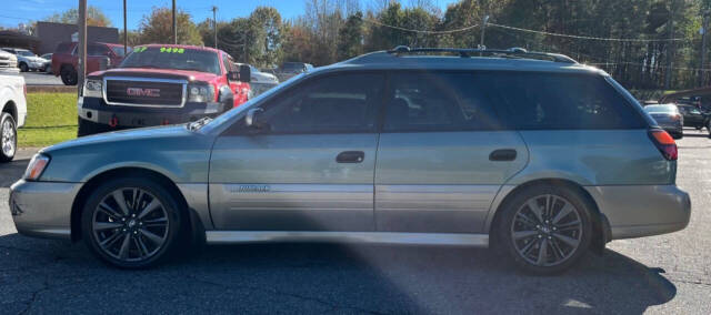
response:
<path id="1" fill-rule="evenodd" d="M 494 225 L 502 248 L 522 270 L 561 273 L 588 252 L 592 206 L 568 186 L 529 186 L 503 204 Z"/>

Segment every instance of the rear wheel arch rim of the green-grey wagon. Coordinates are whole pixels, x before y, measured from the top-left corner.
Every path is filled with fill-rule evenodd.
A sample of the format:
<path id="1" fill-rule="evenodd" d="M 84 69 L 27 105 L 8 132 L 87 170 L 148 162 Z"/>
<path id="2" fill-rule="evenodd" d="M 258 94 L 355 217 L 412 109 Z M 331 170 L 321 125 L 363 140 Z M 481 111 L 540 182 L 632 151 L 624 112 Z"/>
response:
<path id="1" fill-rule="evenodd" d="M 533 180 L 533 181 L 529 181 L 523 184 L 520 184 L 515 189 L 513 189 L 511 192 L 509 192 L 497 206 L 495 212 L 493 214 L 493 219 L 490 222 L 488 222 L 489 231 L 487 233 L 489 233 L 489 240 L 491 242 L 491 245 L 495 246 L 495 243 L 498 241 L 494 226 L 497 226 L 498 220 L 500 220 L 501 217 L 500 214 L 502 213 L 502 210 L 519 192 L 523 191 L 527 187 L 537 186 L 537 185 L 564 186 L 564 187 L 571 189 L 575 191 L 587 203 L 589 203 L 593 212 L 592 213 L 593 237 L 592 237 L 591 248 L 595 253 L 602 254 L 604 250 L 604 245 L 611 238 L 610 224 L 608 223 L 608 219 L 604 216 L 604 214 L 602 214 L 602 212 L 600 211 L 600 207 L 598 206 L 598 203 L 592 197 L 592 195 L 585 189 L 583 189 L 582 185 L 564 179 Z"/>

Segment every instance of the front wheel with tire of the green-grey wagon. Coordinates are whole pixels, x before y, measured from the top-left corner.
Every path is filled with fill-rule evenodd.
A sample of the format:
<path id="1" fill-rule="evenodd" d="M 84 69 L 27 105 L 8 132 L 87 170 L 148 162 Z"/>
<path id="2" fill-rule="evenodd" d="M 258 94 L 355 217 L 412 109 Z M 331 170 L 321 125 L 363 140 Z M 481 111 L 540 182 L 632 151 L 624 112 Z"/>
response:
<path id="1" fill-rule="evenodd" d="M 178 245 L 182 213 L 176 196 L 151 177 L 110 180 L 84 205 L 82 238 L 109 265 L 154 266 Z"/>

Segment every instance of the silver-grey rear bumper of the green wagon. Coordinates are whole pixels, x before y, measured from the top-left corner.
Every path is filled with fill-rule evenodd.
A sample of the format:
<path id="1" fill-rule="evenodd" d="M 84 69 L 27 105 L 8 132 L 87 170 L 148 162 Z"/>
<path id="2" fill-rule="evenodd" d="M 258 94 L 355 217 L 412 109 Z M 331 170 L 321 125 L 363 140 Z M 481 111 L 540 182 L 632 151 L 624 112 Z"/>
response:
<path id="1" fill-rule="evenodd" d="M 612 240 L 683 230 L 691 217 L 691 199 L 675 185 L 587 186 L 610 222 Z"/>

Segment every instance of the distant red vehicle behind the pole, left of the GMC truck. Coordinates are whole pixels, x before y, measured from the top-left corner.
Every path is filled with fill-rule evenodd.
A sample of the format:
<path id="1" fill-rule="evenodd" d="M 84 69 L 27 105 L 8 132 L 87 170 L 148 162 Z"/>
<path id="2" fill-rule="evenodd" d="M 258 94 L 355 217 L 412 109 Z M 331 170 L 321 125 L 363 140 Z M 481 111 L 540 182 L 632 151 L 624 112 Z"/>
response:
<path id="1" fill-rule="evenodd" d="M 122 44 L 91 42 L 87 44 L 87 73 L 116 67 L 123 61 L 123 57 L 126 51 Z M 52 54 L 52 73 L 61 77 L 64 85 L 77 85 L 78 61 L 77 43 L 62 42 Z"/>

